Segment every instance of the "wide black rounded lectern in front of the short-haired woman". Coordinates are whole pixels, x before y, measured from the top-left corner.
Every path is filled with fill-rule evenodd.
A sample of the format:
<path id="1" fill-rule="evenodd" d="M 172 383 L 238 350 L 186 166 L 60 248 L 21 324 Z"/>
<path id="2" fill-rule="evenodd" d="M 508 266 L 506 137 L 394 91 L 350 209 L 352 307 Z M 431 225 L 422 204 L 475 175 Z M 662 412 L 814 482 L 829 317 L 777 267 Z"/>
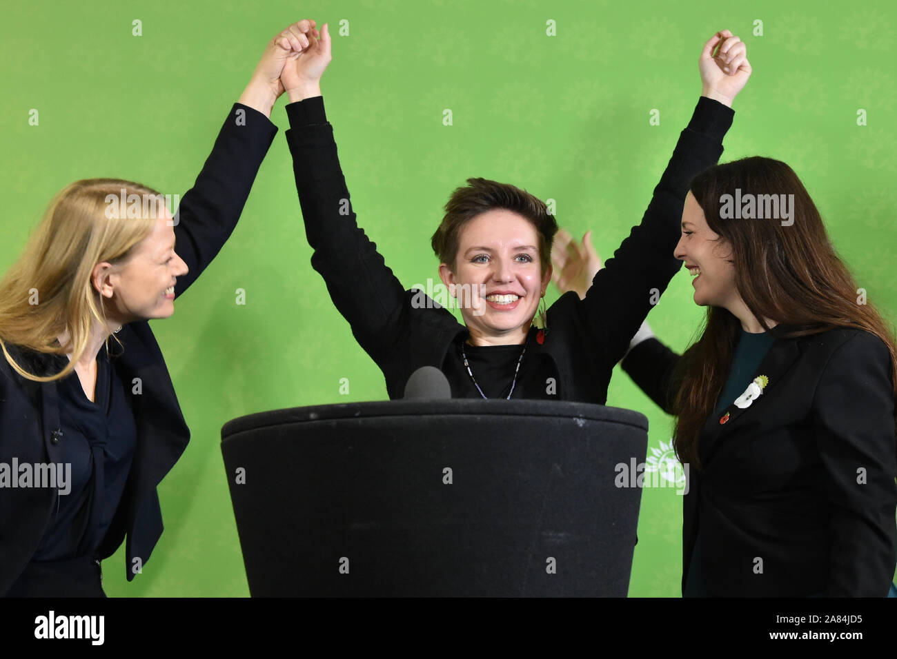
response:
<path id="1" fill-rule="evenodd" d="M 222 454 L 253 596 L 625 596 L 638 412 L 404 400 L 229 421 Z M 628 480 L 627 480 L 628 482 Z"/>

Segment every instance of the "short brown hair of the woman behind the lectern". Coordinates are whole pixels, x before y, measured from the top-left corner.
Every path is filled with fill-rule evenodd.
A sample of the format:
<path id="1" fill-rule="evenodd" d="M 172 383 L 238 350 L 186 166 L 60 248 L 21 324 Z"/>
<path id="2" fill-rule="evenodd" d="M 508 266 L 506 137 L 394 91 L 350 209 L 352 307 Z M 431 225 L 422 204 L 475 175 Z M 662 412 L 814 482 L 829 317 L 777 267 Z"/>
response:
<path id="1" fill-rule="evenodd" d="M 483 212 L 501 208 L 526 218 L 539 234 L 539 261 L 544 273 L 552 262 L 552 243 L 558 223 L 544 202 L 526 190 L 488 178 L 468 178 L 448 198 L 446 214 L 433 234 L 431 245 L 440 262 L 455 271 L 461 228 Z"/>

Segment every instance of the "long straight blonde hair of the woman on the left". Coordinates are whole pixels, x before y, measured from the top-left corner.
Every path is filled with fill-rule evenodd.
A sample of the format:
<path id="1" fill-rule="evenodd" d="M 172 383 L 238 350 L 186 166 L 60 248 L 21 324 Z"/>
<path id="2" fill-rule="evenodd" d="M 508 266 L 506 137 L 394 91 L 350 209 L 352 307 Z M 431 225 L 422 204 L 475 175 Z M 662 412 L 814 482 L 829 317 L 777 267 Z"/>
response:
<path id="1" fill-rule="evenodd" d="M 120 201 L 138 200 L 137 207 Z M 66 377 L 83 356 L 94 320 L 106 325 L 102 297 L 93 287 L 93 266 L 119 264 L 153 229 L 161 199 L 150 187 L 118 178 L 86 178 L 65 186 L 50 202 L 22 256 L 0 280 L 0 348 L 22 377 L 50 382 Z M 112 209 L 112 212 L 110 212 Z M 68 333 L 68 343 L 57 337 Z M 72 353 L 65 369 L 51 376 L 31 373 L 13 359 L 7 343 L 47 354 Z"/>

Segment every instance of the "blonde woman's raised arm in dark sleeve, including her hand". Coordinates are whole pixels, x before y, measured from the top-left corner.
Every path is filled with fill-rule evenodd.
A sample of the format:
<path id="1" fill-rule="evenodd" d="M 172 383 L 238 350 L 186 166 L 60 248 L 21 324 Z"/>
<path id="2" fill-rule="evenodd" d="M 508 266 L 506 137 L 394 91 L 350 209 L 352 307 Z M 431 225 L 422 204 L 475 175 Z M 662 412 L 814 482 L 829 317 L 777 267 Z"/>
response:
<path id="1" fill-rule="evenodd" d="M 271 108 L 283 93 L 283 65 L 309 46 L 313 21 L 293 23 L 268 42 L 239 101 L 231 108 L 196 183 L 174 217 L 175 251 L 189 271 L 179 277 L 175 296 L 221 251 L 237 226 L 258 168 L 274 141 Z"/>

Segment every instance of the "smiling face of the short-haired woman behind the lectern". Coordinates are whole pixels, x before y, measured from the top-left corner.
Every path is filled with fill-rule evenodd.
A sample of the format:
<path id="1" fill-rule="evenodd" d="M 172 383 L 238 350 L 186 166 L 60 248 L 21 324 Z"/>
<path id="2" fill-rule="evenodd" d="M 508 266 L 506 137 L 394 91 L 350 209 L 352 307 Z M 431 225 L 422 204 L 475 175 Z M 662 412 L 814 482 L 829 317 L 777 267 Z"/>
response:
<path id="1" fill-rule="evenodd" d="M 440 278 L 450 290 L 462 287 L 457 297 L 475 344 L 526 340 L 552 276 L 551 266 L 542 272 L 538 245 L 536 227 L 504 209 L 480 213 L 461 229 L 455 272 L 440 264 Z M 474 291 L 472 308 L 463 303 L 466 290 Z"/>

